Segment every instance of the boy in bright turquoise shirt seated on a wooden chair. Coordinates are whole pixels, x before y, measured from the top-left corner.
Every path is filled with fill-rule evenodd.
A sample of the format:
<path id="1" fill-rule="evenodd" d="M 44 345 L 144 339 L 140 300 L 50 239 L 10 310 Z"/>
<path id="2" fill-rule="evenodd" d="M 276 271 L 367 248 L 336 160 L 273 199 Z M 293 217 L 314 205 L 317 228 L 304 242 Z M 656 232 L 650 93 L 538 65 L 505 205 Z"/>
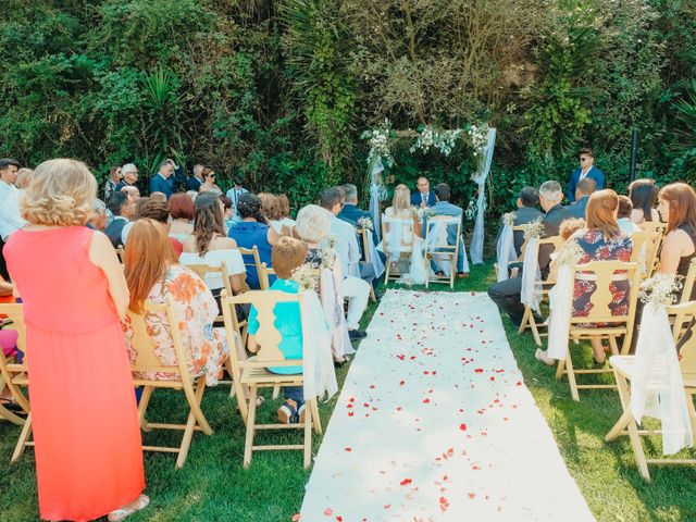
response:
<path id="1" fill-rule="evenodd" d="M 281 237 L 273 246 L 273 268 L 277 279 L 271 285 L 272 290 L 285 294 L 298 294 L 299 286 L 290 277 L 293 271 L 304 263 L 307 247 L 298 239 Z M 300 321 L 300 307 L 297 302 L 278 302 L 273 308 L 275 315 L 274 325 L 283 337 L 278 348 L 285 359 L 302 358 L 302 323 Z M 259 316 L 254 307 L 249 314 L 249 351 L 259 349 L 256 334 L 259 332 Z M 326 326 L 324 325 L 324 330 Z M 275 366 L 268 369 L 272 373 L 293 375 L 302 373 L 302 366 Z M 304 395 L 302 386 L 285 386 L 283 388 L 285 403 L 278 409 L 278 420 L 282 424 L 304 422 Z"/>

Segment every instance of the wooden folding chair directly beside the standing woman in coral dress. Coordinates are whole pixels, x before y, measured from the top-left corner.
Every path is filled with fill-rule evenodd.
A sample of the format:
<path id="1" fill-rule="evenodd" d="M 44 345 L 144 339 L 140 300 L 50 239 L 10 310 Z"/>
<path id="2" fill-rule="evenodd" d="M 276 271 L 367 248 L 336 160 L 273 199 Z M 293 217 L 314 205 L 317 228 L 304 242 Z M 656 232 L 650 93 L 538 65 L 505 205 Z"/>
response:
<path id="1" fill-rule="evenodd" d="M 176 352 L 176 365 L 164 365 L 157 357 L 154 351 L 156 345 L 152 338 L 148 335 L 149 327 L 146 322 L 146 316 L 152 313 L 164 313 L 166 315 L 169 324 L 171 325 L 170 331 L 174 343 L 174 351 Z M 188 355 L 184 350 L 177 327 L 179 318 L 175 315 L 174 309 L 171 304 L 154 304 L 146 302 L 145 313 L 135 314 L 128 311 L 128 320 L 133 328 L 130 345 L 137 352 L 135 362 L 132 362 L 130 364 L 133 384 L 135 386 L 142 386 L 144 388 L 140 402 L 138 403 L 140 426 L 145 432 L 149 432 L 151 430 L 177 430 L 184 432 L 182 443 L 178 447 L 142 446 L 142 449 L 146 451 L 176 453 L 176 468 L 182 468 L 186 462 L 194 432 L 200 431 L 206 435 L 211 435 L 213 433 L 210 424 L 208 424 L 208 421 L 206 420 L 206 415 L 203 415 L 203 412 L 200 409 L 200 402 L 203 397 L 203 391 L 206 390 L 206 377 L 190 376 L 188 373 Z M 234 344 L 229 345 L 231 352 L 234 351 Z M 154 373 L 169 373 L 172 374 L 173 378 L 156 380 L 141 376 L 144 374 Z M 186 424 L 152 423 L 146 420 L 148 405 L 156 388 L 169 388 L 184 391 L 189 408 Z"/>

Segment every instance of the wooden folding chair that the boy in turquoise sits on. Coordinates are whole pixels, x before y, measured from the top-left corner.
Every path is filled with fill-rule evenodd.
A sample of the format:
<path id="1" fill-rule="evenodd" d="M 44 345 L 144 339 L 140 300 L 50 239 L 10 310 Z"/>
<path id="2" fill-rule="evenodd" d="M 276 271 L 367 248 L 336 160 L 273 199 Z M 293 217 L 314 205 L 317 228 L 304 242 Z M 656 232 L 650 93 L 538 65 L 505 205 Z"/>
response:
<path id="1" fill-rule="evenodd" d="M 223 314 L 225 316 L 225 330 L 234 332 L 237 324 L 235 304 L 249 303 L 258 311 L 259 331 L 256 334 L 259 351 L 256 356 L 246 361 L 240 361 L 236 352 L 232 353 L 231 361 L 233 369 L 233 380 L 237 386 L 237 401 L 239 410 L 246 418 L 247 433 L 244 450 L 244 467 L 251 463 L 253 451 L 262 450 L 303 450 L 304 468 L 309 468 L 312 457 L 312 428 L 314 433 L 321 435 L 322 424 L 319 418 L 319 407 L 316 398 L 307 399 L 304 422 L 298 424 L 257 424 L 257 394 L 259 388 L 275 386 L 302 386 L 303 374 L 283 375 L 272 373 L 269 366 L 298 366 L 302 365 L 301 359 L 286 360 L 278 348 L 282 336 L 275 328 L 275 306 L 279 302 L 295 302 L 302 313 L 302 294 L 285 294 L 276 290 L 251 290 L 239 296 L 223 297 Z M 249 386 L 248 402 L 244 400 L 243 386 Z M 304 443 L 300 445 L 268 445 L 259 446 L 253 444 L 257 430 L 303 430 Z"/>

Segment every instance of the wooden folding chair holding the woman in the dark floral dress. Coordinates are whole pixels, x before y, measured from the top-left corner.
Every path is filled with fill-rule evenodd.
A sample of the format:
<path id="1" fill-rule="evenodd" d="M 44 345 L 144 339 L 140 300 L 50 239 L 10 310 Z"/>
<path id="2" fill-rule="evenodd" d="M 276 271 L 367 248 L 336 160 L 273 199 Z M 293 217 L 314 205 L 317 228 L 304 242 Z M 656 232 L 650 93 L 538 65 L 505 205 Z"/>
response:
<path id="1" fill-rule="evenodd" d="M 622 272 L 617 274 L 616 272 Z M 637 263 L 624 263 L 622 261 L 592 261 L 585 264 L 576 264 L 571 271 L 571 281 L 588 281 L 595 284 L 595 291 L 589 300 L 592 309 L 585 316 L 570 318 L 569 337 L 575 343 L 580 340 L 599 338 L 609 341 L 609 348 L 613 356 L 619 355 L 618 337 L 623 336 L 621 353 L 627 353 L 631 348 L 633 335 L 633 322 L 635 321 L 638 286 L 641 284 L 641 266 Z M 625 315 L 612 315 L 609 304 L 613 297 L 610 284 L 617 281 L 626 281 L 630 285 L 629 307 Z M 571 293 L 568 307 L 573 307 L 573 293 Z M 595 327 L 596 325 L 596 327 Z M 576 375 L 613 373 L 611 369 L 576 370 L 573 366 L 571 350 L 569 348 L 566 359 L 558 361 L 556 378 L 561 380 L 568 375 L 568 384 L 573 400 L 580 400 L 579 389 L 616 388 L 616 384 L 577 384 Z"/>

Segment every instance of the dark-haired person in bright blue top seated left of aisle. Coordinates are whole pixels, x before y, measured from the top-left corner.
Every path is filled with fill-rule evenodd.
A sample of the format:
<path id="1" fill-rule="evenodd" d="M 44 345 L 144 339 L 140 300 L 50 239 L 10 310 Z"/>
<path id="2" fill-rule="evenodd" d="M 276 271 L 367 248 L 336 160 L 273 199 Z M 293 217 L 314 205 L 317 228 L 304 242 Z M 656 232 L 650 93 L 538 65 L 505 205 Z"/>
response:
<path id="1" fill-rule="evenodd" d="M 257 247 L 261 262 L 272 269 L 271 249 L 278 241 L 279 236 L 269 226 L 261 212 L 261 200 L 251 192 L 244 192 L 239 196 L 237 212 L 241 221 L 229 228 L 227 236 L 237 241 L 241 248 Z M 247 284 L 249 288 L 258 290 L 261 285 L 257 268 L 253 265 L 253 257 L 248 254 L 244 256 L 244 259 L 247 264 Z"/>

